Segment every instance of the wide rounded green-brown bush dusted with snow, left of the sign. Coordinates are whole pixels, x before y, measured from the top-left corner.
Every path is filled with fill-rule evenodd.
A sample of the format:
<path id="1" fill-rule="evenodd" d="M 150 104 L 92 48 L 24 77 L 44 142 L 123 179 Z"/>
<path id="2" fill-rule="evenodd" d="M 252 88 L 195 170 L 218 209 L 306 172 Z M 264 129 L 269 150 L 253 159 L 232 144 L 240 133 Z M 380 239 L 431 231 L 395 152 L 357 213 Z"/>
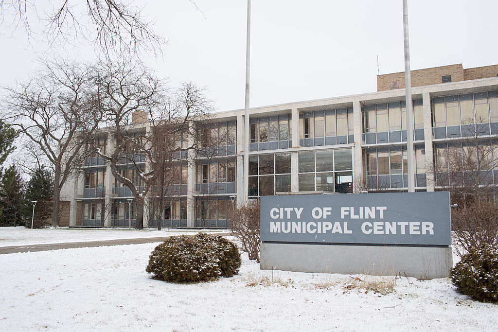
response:
<path id="1" fill-rule="evenodd" d="M 239 272 L 237 246 L 220 235 L 171 236 L 154 248 L 145 271 L 172 282 L 199 282 Z"/>

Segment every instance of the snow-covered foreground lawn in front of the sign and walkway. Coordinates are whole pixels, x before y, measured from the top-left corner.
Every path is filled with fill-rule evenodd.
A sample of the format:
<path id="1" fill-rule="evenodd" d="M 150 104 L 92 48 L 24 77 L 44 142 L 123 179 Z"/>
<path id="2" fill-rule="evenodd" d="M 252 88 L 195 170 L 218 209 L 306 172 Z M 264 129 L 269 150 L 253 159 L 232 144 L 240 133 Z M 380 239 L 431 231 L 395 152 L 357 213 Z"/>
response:
<path id="1" fill-rule="evenodd" d="M 150 279 L 157 243 L 0 255 L 0 331 L 491 331 L 498 306 L 449 279 L 260 271 L 201 284 Z"/>

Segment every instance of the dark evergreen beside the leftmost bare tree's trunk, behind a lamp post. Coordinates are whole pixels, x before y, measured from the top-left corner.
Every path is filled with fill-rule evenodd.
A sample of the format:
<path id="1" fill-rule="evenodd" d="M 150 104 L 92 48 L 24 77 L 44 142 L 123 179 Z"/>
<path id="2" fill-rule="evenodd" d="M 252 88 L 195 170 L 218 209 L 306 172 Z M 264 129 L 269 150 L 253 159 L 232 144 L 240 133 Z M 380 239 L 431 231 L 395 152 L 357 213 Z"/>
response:
<path id="1" fill-rule="evenodd" d="M 42 227 L 50 223 L 52 217 L 53 200 L 53 175 L 45 167 L 38 168 L 26 185 L 26 200 L 28 204 L 36 201 L 34 209 L 33 227 Z M 30 206 L 32 209 L 32 205 Z M 26 227 L 31 227 L 31 219 L 28 218 Z"/>

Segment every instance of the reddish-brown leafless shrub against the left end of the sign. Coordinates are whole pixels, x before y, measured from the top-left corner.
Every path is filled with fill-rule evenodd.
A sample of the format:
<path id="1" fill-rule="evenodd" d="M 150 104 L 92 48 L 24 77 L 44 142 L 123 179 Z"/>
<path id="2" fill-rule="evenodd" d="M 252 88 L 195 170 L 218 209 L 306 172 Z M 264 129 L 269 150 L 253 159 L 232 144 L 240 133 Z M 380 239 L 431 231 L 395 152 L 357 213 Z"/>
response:
<path id="1" fill-rule="evenodd" d="M 255 259 L 259 263 L 261 244 L 259 202 L 249 202 L 235 209 L 231 220 L 232 234 L 241 241 L 249 259 Z"/>

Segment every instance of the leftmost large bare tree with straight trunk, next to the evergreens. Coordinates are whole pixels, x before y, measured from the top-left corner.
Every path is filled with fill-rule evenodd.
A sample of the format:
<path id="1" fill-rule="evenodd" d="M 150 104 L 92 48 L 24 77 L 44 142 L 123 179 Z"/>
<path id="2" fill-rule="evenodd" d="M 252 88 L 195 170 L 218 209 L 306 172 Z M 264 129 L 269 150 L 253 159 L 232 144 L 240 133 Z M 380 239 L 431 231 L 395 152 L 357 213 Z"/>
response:
<path id="1" fill-rule="evenodd" d="M 52 211 L 59 211 L 60 190 L 75 166 L 81 147 L 102 120 L 94 67 L 60 61 L 46 63 L 28 82 L 6 89 L 4 111 L 12 126 L 28 138 L 27 147 L 53 168 Z M 59 225 L 53 213 L 52 224 Z"/>

